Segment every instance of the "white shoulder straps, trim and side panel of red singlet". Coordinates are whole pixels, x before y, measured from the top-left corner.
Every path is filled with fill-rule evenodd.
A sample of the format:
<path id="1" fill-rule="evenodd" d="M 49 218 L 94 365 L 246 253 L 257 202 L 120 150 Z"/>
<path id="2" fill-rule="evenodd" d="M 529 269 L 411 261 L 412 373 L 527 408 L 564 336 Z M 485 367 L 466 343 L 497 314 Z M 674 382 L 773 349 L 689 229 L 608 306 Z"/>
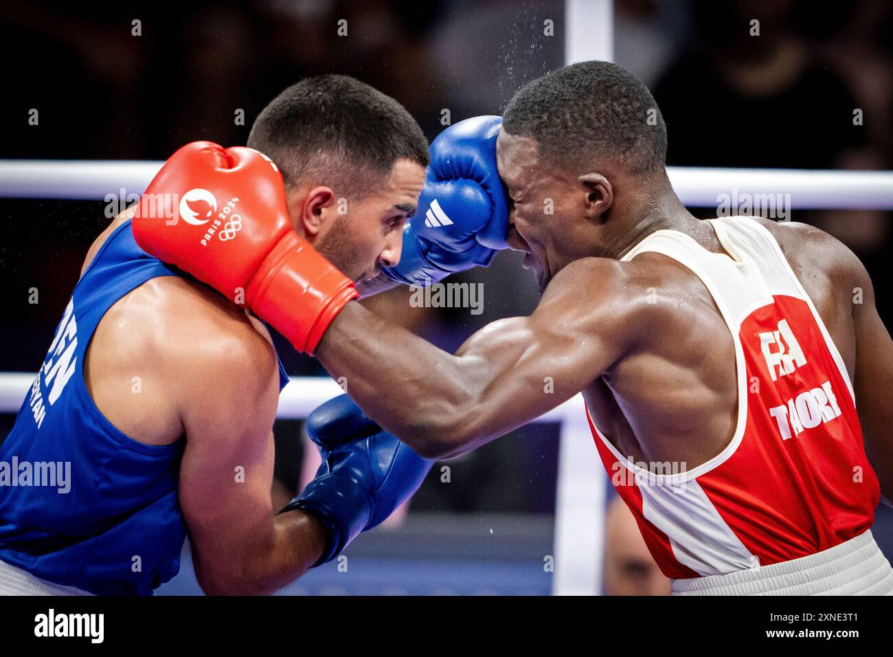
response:
<path id="1" fill-rule="evenodd" d="M 623 456 L 598 429 L 588 408 L 586 412 L 597 440 L 605 445 L 622 467 L 633 473 L 641 494 L 642 516 L 666 535 L 673 557 L 701 576 L 693 581 L 703 577 L 714 579 L 725 577 L 724 574 L 727 573 L 755 570 L 761 570 L 768 577 L 776 570 L 761 569 L 759 559 L 747 550 L 697 482 L 697 477 L 721 466 L 738 450 L 747 428 L 747 364 L 740 339 L 741 324 L 756 309 L 772 305 L 776 296 L 803 300 L 810 308 L 825 344 L 847 382 L 851 397 L 852 386 L 847 369 L 821 316 L 772 233 L 745 217 L 714 219 L 710 223 L 717 240 L 728 255 L 708 251 L 689 234 L 661 230 L 641 240 L 622 257 L 622 261 L 629 261 L 646 252 L 669 257 L 695 274 L 714 299 L 731 333 L 735 348 L 738 416 L 731 441 L 712 459 L 686 472 L 655 474 Z M 887 568 L 889 569 L 889 565 Z"/>

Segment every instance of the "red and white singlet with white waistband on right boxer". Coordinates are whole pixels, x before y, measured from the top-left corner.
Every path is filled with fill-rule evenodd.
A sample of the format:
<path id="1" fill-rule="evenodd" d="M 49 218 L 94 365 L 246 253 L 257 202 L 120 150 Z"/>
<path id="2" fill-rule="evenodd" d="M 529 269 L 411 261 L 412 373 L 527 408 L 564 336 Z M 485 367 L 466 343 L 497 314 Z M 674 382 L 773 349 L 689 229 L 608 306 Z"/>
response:
<path id="1" fill-rule="evenodd" d="M 735 346 L 732 440 L 697 467 L 655 474 L 589 417 L 608 474 L 674 593 L 887 593 L 893 572 L 869 531 L 880 487 L 839 351 L 768 230 L 710 223 L 728 256 L 662 230 L 622 260 L 663 254 L 710 292 Z"/>

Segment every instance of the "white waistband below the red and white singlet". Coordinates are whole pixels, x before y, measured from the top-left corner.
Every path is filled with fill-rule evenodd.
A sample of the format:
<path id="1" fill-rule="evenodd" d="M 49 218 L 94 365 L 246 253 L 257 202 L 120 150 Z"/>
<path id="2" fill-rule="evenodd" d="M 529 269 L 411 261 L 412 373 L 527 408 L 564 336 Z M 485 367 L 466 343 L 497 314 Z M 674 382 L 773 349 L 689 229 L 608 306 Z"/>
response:
<path id="1" fill-rule="evenodd" d="M 672 580 L 673 595 L 893 595 L 871 530 L 828 550 L 725 575 Z"/>

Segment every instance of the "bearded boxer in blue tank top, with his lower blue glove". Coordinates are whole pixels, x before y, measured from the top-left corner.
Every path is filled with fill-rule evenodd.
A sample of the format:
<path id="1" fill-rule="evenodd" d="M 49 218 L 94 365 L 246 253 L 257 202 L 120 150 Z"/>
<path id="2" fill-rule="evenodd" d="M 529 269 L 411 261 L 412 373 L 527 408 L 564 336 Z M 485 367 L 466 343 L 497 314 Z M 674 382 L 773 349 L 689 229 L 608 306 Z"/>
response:
<path id="1" fill-rule="evenodd" d="M 333 265 L 360 281 L 397 264 L 428 164 L 401 105 L 322 76 L 283 92 L 255 131 L 281 163 L 294 227 Z M 430 469 L 342 396 L 308 417 L 322 465 L 276 513 L 288 377 L 266 326 L 141 250 L 135 209 L 90 248 L 0 444 L 0 594 L 151 594 L 187 535 L 206 593 L 271 593 L 387 518 Z"/>

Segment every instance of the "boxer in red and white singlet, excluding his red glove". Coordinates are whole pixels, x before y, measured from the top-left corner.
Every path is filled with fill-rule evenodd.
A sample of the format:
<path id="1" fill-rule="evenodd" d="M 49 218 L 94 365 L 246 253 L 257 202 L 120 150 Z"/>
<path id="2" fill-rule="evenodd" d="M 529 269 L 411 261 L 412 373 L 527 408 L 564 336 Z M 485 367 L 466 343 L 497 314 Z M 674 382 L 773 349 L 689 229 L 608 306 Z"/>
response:
<path id="1" fill-rule="evenodd" d="M 531 81 L 505 107 L 496 160 L 505 244 L 542 291 L 533 313 L 454 354 L 348 304 L 317 358 L 432 459 L 580 393 L 676 593 L 893 593 L 871 533 L 893 499 L 893 340 L 870 275 L 803 223 L 697 219 L 666 149 L 655 98 L 620 67 Z"/>

